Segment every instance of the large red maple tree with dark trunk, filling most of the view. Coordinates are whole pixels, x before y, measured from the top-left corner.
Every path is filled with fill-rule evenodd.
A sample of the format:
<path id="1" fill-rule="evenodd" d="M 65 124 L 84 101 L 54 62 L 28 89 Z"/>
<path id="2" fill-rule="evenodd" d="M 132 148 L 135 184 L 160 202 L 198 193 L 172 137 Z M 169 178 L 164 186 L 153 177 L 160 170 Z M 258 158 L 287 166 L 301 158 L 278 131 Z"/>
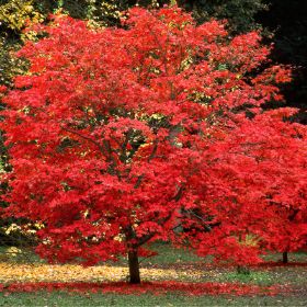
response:
<path id="1" fill-rule="evenodd" d="M 257 261 L 261 245 L 247 236 L 264 241 L 266 218 L 285 220 L 271 207 L 291 195 L 273 181 L 295 184 L 283 141 L 306 152 L 303 127 L 261 110 L 281 100 L 289 71 L 269 67 L 259 34 L 231 38 L 175 7 L 134 8 L 121 29 L 56 15 L 36 31 L 43 38 L 19 52 L 30 72 L 5 96 L 1 127 L 13 167 L 4 214 L 44 225 L 37 252 L 84 264 L 127 255 L 130 283 L 155 240 Z M 292 155 L 282 169 L 281 150 Z"/>

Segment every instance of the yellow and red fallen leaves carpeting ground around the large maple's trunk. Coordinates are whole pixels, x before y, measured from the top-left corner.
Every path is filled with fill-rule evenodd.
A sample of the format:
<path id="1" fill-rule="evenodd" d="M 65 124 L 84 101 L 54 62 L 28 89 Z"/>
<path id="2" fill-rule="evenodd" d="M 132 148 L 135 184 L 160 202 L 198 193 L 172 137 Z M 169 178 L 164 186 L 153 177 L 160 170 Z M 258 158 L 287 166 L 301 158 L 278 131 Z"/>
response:
<path id="1" fill-rule="evenodd" d="M 96 265 L 83 268 L 76 264 L 12 264 L 0 263 L 0 292 L 103 292 L 121 294 L 180 292 L 187 295 L 275 295 L 281 288 L 275 285 L 257 285 L 225 282 L 220 276 L 225 272 L 204 268 L 140 269 L 145 281 L 141 285 L 132 286 L 127 281 L 128 269 L 124 266 Z M 206 276 L 207 275 L 207 276 Z M 212 280 L 212 282 L 208 282 Z M 285 288 L 283 289 L 285 291 Z"/>

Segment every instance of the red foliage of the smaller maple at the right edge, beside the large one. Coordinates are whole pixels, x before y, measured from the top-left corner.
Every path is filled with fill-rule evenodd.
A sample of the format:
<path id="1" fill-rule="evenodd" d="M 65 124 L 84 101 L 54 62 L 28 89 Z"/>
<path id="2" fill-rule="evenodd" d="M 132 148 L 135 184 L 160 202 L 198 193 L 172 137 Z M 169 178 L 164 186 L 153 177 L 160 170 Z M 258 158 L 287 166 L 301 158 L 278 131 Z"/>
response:
<path id="1" fill-rule="evenodd" d="M 208 225 L 218 227 L 215 236 L 202 232 L 196 240 L 201 254 L 242 265 L 261 261 L 268 250 L 297 251 L 307 241 L 306 126 L 284 121 L 296 110 L 254 111 L 207 152 L 215 158 L 212 189 L 220 190 Z"/>

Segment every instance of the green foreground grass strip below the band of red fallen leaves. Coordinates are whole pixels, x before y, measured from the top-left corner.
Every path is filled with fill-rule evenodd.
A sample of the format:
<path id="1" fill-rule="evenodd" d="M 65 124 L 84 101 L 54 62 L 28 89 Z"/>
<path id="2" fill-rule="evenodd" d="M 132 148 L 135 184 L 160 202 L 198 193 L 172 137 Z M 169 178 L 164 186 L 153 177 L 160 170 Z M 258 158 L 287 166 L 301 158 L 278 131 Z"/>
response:
<path id="1" fill-rule="evenodd" d="M 307 296 L 78 295 L 62 292 L 0 294 L 0 306 L 306 306 Z"/>

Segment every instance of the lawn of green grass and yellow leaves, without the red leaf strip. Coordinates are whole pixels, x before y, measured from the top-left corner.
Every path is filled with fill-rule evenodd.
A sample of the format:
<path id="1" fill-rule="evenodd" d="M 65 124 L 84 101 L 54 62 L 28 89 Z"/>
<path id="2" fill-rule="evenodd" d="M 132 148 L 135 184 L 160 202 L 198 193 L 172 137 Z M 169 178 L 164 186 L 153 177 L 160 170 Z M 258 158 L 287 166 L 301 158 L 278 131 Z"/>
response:
<path id="1" fill-rule="evenodd" d="M 84 291 L 38 291 L 11 293 L 3 288 L 0 293 L 0 306 L 306 306 L 307 303 L 307 254 L 293 253 L 291 263 L 282 265 L 270 262 L 268 265 L 253 268 L 250 274 L 237 274 L 234 268 L 216 266 L 211 261 L 197 258 L 189 251 L 172 249 L 167 243 L 154 247 L 160 255 L 141 261 L 141 275 L 145 282 L 163 283 L 173 281 L 197 283 L 200 287 L 208 283 L 236 284 L 239 286 L 277 287 L 278 293 L 237 295 L 192 295 L 185 292 L 152 294 L 132 291 L 129 294 L 91 293 Z M 280 254 L 269 255 L 270 261 L 280 260 Z M 31 260 L 31 261 L 30 261 Z M 104 263 L 82 269 L 78 265 L 48 265 L 37 258 L 30 257 L 27 262 L 22 257 L 3 258 L 0 263 L 0 283 L 10 285 L 18 282 L 68 282 L 100 283 L 113 285 L 125 282 L 126 261 L 115 265 Z M 189 284 L 187 284 L 189 285 Z M 72 286 L 73 289 L 73 286 Z M 180 288 L 179 288 L 180 289 Z"/>

